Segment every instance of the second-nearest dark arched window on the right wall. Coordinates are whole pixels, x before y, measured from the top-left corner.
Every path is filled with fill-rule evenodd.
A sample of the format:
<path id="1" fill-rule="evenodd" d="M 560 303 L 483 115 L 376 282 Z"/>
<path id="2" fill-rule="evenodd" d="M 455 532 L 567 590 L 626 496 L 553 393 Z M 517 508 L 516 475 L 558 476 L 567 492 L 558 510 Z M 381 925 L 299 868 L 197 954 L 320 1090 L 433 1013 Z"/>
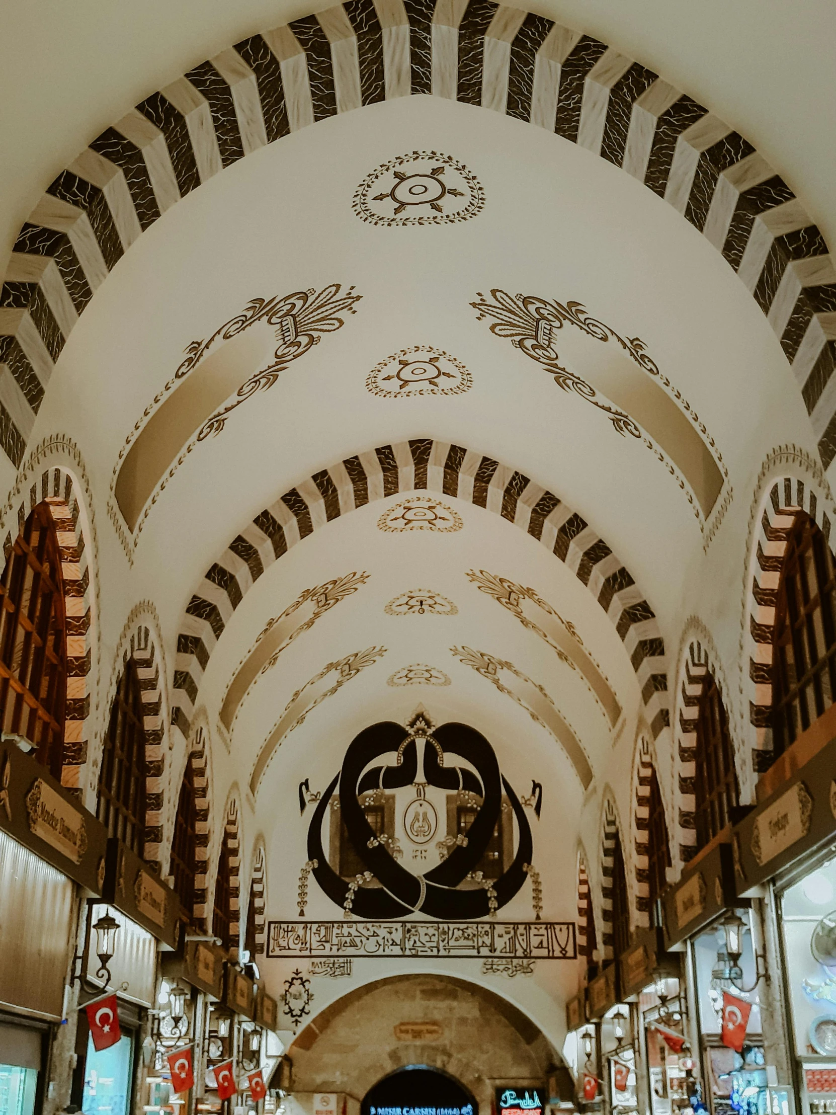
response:
<path id="1" fill-rule="evenodd" d="M 694 826 L 699 850 L 726 827 L 738 804 L 729 718 L 710 673 L 702 686 L 697 712 L 694 766 Z"/>

